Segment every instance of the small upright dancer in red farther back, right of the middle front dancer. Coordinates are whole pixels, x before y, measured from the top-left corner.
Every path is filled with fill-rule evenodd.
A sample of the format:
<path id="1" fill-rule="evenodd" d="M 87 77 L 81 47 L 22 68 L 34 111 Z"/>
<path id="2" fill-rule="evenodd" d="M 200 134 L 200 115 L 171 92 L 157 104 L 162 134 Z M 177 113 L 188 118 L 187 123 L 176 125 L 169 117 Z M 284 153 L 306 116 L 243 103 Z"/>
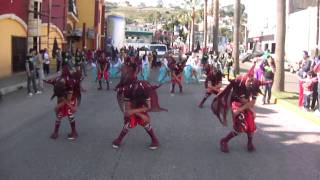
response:
<path id="1" fill-rule="evenodd" d="M 170 60 L 169 68 L 171 71 L 171 93 L 174 93 L 176 84 L 179 86 L 179 91 L 182 93 L 182 73 L 185 62 L 176 62 L 174 59 Z"/>

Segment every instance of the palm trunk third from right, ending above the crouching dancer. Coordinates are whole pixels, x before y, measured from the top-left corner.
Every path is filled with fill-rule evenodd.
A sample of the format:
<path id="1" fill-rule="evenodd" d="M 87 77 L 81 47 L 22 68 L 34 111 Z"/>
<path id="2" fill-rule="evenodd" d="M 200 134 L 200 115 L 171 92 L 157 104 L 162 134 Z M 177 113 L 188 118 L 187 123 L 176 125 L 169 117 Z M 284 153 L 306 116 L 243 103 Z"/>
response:
<path id="1" fill-rule="evenodd" d="M 219 43 L 219 0 L 212 0 L 212 17 L 213 19 L 213 51 L 218 53 L 218 43 Z"/>

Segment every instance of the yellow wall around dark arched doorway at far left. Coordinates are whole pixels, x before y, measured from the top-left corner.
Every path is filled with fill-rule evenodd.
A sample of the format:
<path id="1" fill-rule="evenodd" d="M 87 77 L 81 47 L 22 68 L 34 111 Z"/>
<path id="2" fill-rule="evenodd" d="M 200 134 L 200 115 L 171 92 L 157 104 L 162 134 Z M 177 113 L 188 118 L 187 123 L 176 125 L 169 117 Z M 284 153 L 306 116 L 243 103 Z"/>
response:
<path id="1" fill-rule="evenodd" d="M 18 18 L 18 17 L 16 17 Z M 22 20 L 21 20 L 22 21 Z M 12 36 L 27 36 L 27 29 L 21 22 L 0 18 L 0 78 L 12 74 Z M 3 28 L 5 27 L 5 28 Z"/>

